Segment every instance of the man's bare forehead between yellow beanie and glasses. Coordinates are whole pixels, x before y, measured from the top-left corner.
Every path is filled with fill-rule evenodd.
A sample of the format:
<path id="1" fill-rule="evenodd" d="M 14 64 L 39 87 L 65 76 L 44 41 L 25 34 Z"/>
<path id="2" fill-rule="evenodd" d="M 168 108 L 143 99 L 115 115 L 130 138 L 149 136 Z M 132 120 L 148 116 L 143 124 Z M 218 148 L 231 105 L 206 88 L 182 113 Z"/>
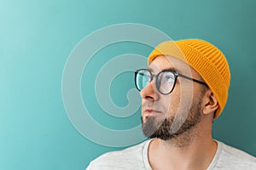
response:
<path id="1" fill-rule="evenodd" d="M 150 65 L 148 65 L 148 69 L 153 71 L 154 74 L 157 72 L 171 69 L 174 71 L 177 71 L 178 73 L 184 74 L 184 75 L 195 75 L 195 77 L 200 77 L 199 74 L 190 67 L 186 62 L 184 62 L 181 59 L 177 59 L 172 56 L 166 56 L 166 55 L 160 55 L 156 57 Z"/>

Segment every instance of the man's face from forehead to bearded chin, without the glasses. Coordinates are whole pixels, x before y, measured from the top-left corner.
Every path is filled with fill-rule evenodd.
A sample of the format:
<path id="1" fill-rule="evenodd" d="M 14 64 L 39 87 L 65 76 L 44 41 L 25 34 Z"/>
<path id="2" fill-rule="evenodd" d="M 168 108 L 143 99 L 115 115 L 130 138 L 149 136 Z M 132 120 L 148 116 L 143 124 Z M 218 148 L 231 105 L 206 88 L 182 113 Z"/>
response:
<path id="1" fill-rule="evenodd" d="M 172 69 L 201 80 L 198 73 L 180 59 L 159 56 L 148 69 L 156 75 Z M 160 94 L 155 78 L 141 91 L 143 133 L 148 138 L 172 139 L 195 127 L 201 121 L 201 85 L 183 77 L 177 77 L 171 94 Z"/>

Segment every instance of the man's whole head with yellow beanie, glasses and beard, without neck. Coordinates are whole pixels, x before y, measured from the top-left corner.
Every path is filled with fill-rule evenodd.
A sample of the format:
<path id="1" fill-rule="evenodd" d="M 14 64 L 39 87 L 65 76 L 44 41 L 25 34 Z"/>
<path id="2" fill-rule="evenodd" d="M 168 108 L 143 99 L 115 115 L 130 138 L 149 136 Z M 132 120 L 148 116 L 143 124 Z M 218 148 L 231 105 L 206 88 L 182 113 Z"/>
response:
<path id="1" fill-rule="evenodd" d="M 224 54 L 209 42 L 162 42 L 149 55 L 145 72 L 151 79 L 139 90 L 147 137 L 172 139 L 197 126 L 202 116 L 216 118 L 224 109 L 230 69 Z"/>

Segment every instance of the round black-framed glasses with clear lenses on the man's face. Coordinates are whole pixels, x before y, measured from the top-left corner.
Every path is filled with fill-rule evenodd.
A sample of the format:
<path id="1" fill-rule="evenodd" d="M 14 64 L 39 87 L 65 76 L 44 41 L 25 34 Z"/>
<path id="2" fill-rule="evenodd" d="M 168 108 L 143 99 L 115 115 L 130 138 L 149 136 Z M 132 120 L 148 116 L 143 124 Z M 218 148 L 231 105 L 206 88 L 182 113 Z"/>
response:
<path id="1" fill-rule="evenodd" d="M 152 74 L 147 69 L 140 69 L 135 71 L 135 85 L 138 91 L 145 88 L 149 82 L 152 82 L 153 77 L 155 77 L 155 86 L 160 94 L 171 94 L 173 88 L 175 87 L 177 77 L 183 77 L 193 82 L 201 83 L 202 85 L 208 87 L 206 82 L 201 82 L 195 80 L 191 77 L 186 77 L 176 71 L 164 70 L 160 71 L 157 75 Z"/>

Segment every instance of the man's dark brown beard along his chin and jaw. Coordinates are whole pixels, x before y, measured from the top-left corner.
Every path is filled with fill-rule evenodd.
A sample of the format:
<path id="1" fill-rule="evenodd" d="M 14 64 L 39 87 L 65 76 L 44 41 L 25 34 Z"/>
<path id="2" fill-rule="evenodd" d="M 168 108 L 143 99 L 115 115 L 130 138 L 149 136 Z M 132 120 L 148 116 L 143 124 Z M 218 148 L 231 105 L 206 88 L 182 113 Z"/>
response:
<path id="1" fill-rule="evenodd" d="M 162 140 L 175 139 L 184 132 L 189 132 L 195 125 L 201 122 L 201 100 L 192 103 L 189 114 L 184 112 L 181 116 L 169 116 L 164 120 L 157 119 L 156 116 L 148 116 L 143 122 L 142 129 L 145 137 Z M 185 120 L 184 120 L 185 119 Z"/>

